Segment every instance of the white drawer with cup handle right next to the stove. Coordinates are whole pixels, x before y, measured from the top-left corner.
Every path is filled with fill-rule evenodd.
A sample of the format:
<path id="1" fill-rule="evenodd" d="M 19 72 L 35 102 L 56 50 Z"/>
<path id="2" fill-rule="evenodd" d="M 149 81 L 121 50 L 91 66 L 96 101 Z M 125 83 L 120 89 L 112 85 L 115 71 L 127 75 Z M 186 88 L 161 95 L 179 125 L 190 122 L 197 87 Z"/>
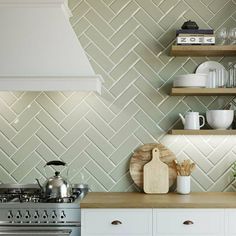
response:
<path id="1" fill-rule="evenodd" d="M 82 236 L 152 235 L 152 209 L 82 209 Z"/>

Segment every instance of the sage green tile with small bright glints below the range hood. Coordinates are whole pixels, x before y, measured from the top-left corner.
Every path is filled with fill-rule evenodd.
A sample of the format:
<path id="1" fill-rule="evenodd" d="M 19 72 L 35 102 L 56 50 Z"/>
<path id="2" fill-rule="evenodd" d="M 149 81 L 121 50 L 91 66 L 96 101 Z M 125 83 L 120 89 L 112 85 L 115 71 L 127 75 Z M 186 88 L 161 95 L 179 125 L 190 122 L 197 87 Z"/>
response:
<path id="1" fill-rule="evenodd" d="M 21 130 L 29 120 L 33 119 L 39 112 L 40 106 L 34 101 L 32 102 L 23 112 L 18 115 L 15 120 L 11 123 L 17 131 Z"/>

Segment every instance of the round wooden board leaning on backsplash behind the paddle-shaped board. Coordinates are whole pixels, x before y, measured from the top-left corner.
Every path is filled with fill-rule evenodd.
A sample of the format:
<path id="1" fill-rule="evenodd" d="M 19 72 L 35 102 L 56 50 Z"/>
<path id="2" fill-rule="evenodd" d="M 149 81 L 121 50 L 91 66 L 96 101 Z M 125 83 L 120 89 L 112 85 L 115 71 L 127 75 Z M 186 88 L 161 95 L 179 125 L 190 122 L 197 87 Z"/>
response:
<path id="1" fill-rule="evenodd" d="M 177 178 L 177 173 L 173 166 L 173 160 L 176 160 L 176 156 L 161 143 L 144 144 L 135 150 L 130 159 L 129 171 L 131 178 L 143 190 L 143 166 L 151 161 L 153 148 L 159 149 L 161 161 L 169 167 L 169 187 L 171 189 L 175 185 Z"/>

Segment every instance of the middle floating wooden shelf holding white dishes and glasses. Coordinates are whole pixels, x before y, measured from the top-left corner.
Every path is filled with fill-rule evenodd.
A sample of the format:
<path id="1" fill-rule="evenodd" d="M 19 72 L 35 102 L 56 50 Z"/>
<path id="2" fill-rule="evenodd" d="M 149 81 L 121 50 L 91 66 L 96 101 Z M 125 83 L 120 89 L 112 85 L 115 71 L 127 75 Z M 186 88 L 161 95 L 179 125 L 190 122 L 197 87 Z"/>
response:
<path id="1" fill-rule="evenodd" d="M 236 96 L 236 88 L 172 88 L 172 96 L 218 96 L 218 95 L 234 95 Z"/>

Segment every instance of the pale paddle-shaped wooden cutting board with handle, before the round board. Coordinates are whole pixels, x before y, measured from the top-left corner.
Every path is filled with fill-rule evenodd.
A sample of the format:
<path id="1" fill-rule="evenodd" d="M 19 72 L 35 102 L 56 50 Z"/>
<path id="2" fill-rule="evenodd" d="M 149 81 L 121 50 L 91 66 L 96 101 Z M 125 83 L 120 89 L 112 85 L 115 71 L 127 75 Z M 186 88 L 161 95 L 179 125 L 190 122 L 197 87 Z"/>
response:
<path id="1" fill-rule="evenodd" d="M 150 194 L 169 191 L 169 168 L 160 160 L 158 148 L 153 148 L 151 161 L 143 167 L 143 190 Z"/>

